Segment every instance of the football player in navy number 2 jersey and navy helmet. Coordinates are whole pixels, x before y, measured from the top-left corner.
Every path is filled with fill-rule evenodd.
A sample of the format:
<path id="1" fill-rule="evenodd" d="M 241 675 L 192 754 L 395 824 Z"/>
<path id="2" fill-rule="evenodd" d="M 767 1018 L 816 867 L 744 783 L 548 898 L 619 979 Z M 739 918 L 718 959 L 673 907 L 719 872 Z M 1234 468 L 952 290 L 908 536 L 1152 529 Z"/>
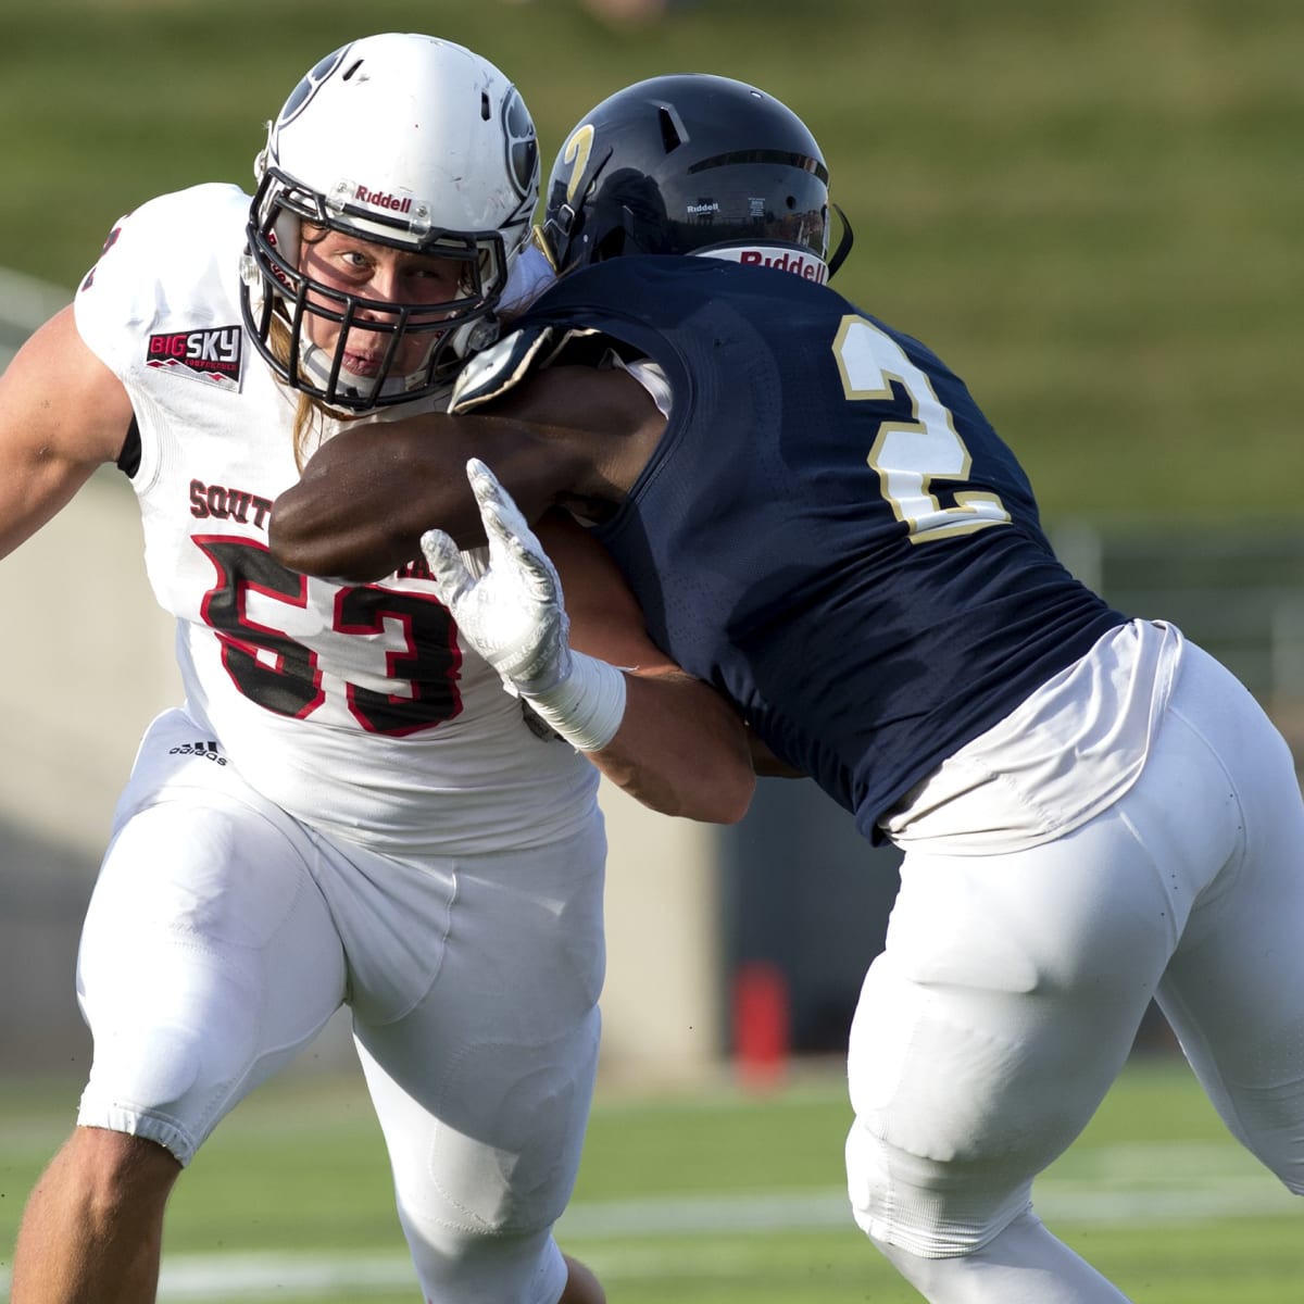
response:
<path id="1" fill-rule="evenodd" d="M 549 184 L 565 275 L 463 373 L 473 415 L 340 436 L 273 546 L 365 578 L 438 526 L 463 630 L 537 674 L 562 593 L 528 522 L 587 524 L 655 640 L 905 853 L 850 1034 L 855 1221 L 939 1304 L 1116 1304 L 1031 1187 L 1151 999 L 1304 1193 L 1304 803 L 1223 666 L 1060 565 L 957 376 L 823 284 L 825 186 L 752 87 L 604 100 Z"/>

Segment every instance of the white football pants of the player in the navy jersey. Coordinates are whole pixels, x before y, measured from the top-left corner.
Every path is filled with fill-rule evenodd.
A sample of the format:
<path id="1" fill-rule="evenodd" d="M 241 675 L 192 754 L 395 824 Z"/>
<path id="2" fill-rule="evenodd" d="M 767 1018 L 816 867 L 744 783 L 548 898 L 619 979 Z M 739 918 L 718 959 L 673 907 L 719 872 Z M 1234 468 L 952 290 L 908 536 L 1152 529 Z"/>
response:
<path id="1" fill-rule="evenodd" d="M 1031 1184 L 1151 996 L 1231 1132 L 1304 1193 L 1304 803 L 1227 670 L 1187 644 L 1140 777 L 1094 819 L 1013 853 L 945 844 L 905 855 L 849 1052 L 855 1218 L 926 1299 L 1124 1299 Z"/>

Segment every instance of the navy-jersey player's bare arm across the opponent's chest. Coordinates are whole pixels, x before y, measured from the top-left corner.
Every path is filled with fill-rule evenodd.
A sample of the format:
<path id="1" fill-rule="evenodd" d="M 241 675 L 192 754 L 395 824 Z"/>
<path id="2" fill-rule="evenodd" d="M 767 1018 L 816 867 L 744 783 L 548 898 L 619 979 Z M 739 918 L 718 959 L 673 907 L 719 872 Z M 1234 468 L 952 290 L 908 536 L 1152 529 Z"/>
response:
<path id="1" fill-rule="evenodd" d="M 420 556 L 424 531 L 484 542 L 467 485 L 488 463 L 527 519 L 550 506 L 592 515 L 619 501 L 664 420 L 623 372 L 548 369 L 492 407 L 346 429 L 308 462 L 273 509 L 276 559 L 306 575 L 374 580 Z"/>

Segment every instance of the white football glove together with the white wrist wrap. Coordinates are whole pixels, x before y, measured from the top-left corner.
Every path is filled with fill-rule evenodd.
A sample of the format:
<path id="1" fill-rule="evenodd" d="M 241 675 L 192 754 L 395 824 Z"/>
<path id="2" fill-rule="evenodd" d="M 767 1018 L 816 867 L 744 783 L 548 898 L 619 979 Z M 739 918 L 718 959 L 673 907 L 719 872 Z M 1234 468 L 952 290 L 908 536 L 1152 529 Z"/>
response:
<path id="1" fill-rule="evenodd" d="M 489 569 L 476 579 L 452 539 L 428 529 L 421 552 L 439 600 L 509 692 L 526 698 L 582 751 L 597 751 L 625 716 L 625 675 L 571 651 L 562 583 L 539 536 L 479 458 L 467 463 L 467 479 L 489 541 Z"/>

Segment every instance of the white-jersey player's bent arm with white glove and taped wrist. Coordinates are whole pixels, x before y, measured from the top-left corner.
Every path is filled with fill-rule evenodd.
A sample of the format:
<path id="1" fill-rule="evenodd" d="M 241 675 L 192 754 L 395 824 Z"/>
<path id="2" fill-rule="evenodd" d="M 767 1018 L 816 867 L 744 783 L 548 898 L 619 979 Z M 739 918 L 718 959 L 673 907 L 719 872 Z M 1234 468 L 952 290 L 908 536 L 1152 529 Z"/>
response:
<path id="1" fill-rule="evenodd" d="M 652 645 L 623 576 L 584 529 L 550 512 L 536 532 L 482 462 L 472 459 L 467 472 L 488 536 L 486 569 L 472 571 L 445 531 L 421 540 L 459 640 L 644 805 L 739 819 L 755 778 L 734 711 Z"/>

